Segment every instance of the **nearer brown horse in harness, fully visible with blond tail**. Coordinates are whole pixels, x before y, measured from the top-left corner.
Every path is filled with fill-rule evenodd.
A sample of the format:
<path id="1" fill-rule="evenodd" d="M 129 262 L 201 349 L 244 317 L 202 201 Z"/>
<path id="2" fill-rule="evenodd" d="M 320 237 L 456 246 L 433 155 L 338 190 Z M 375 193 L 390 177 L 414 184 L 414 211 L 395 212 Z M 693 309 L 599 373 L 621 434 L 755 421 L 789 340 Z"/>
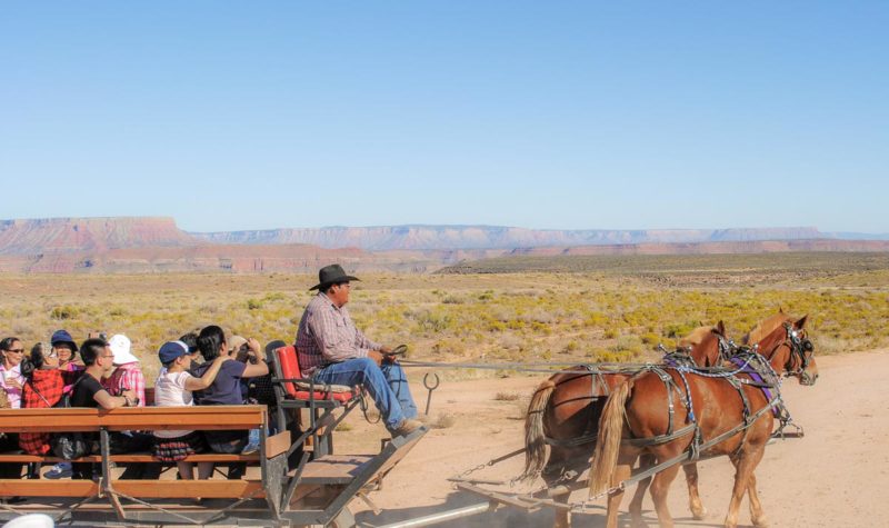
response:
<path id="1" fill-rule="evenodd" d="M 712 378 L 665 369 L 668 381 L 658 372 L 649 371 L 628 379 L 612 392 L 602 410 L 590 469 L 590 494 L 611 491 L 608 498 L 609 528 L 617 527 L 618 507 L 623 495 L 622 488 L 609 489 L 609 486 L 629 478 L 632 465 L 641 454 L 650 454 L 658 462 L 666 462 L 681 458 L 689 450 L 700 450 L 705 456 L 727 455 L 736 467 L 726 526 L 737 526 L 745 492 L 749 495 L 753 525 L 765 526 L 753 470 L 775 427 L 770 411 L 775 399 L 769 398 L 777 391 L 777 376 L 797 377 L 802 385 L 813 385 L 818 378 L 813 348 L 806 338 L 805 325 L 806 317 L 793 321 L 779 313 L 751 331 L 748 340 L 758 340 L 759 357 L 765 358 L 758 369 L 763 372 L 761 377 L 740 373 L 735 378 Z M 776 379 L 770 379 L 771 373 Z M 763 389 L 763 385 L 771 385 L 771 392 Z M 667 410 L 668 404 L 672 414 Z M 749 425 L 738 429 L 748 419 L 746 417 L 749 417 Z M 687 425 L 683 429 L 691 426 L 692 430 L 670 436 L 678 432 L 672 430 L 672 422 Z M 661 441 L 651 441 L 656 437 L 661 437 Z M 651 497 L 662 527 L 673 526 L 667 508 L 667 492 L 678 471 L 678 465 L 663 468 L 651 484 Z"/>

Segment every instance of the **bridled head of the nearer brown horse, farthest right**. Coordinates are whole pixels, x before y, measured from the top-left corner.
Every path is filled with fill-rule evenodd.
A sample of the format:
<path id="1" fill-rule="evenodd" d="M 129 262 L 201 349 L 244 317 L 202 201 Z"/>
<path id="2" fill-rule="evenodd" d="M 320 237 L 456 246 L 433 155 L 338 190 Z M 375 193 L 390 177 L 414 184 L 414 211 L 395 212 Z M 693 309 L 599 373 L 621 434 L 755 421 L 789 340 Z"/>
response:
<path id="1" fill-rule="evenodd" d="M 815 385 L 818 365 L 815 361 L 815 346 L 805 328 L 808 317 L 795 320 L 778 312 L 745 336 L 745 343 L 756 346 L 777 373 L 795 377 L 800 385 Z"/>

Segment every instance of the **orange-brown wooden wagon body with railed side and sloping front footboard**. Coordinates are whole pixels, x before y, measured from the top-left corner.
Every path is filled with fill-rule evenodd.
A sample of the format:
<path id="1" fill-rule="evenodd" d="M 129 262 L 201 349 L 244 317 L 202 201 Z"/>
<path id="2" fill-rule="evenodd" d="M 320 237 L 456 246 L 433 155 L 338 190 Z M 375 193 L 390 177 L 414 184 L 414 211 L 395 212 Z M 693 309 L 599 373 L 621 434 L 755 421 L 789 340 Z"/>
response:
<path id="1" fill-rule="evenodd" d="M 4 432 L 98 432 L 101 452 L 76 462 L 101 465 L 99 481 L 0 479 L 0 496 L 24 497 L 24 504 L 3 506 L 0 521 L 16 515 L 44 512 L 57 520 L 119 524 L 248 524 L 260 526 L 350 525 L 347 504 L 368 482 L 379 478 L 407 454 L 424 430 L 394 438 L 379 455 L 324 455 L 288 467 L 291 432 L 266 435 L 266 406 L 144 407 L 101 410 L 91 408 L 0 410 Z M 157 462 L 150 454 L 111 455 L 109 432 L 126 430 L 239 430 L 259 429 L 259 452 L 200 454 L 186 460 L 259 466 L 238 480 L 121 480 L 113 462 Z M 301 446 L 300 446 L 301 447 Z M 0 454 L 0 462 L 56 462 L 54 456 Z M 259 478 L 256 478 L 258 474 Z M 201 498 L 200 502 L 196 498 Z M 337 522 L 339 520 L 339 522 Z"/>

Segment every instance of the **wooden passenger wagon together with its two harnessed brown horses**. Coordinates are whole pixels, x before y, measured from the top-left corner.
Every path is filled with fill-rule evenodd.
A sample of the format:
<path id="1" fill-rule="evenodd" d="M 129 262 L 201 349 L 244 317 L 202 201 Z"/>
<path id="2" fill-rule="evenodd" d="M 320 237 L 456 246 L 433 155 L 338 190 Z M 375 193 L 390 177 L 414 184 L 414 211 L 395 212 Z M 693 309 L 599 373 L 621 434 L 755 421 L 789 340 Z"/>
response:
<path id="1" fill-rule="evenodd" d="M 641 510 L 642 494 L 652 478 L 660 494 L 655 500 L 656 505 L 660 505 L 658 514 L 661 516 L 663 489 L 679 466 L 686 468 L 690 508 L 696 516 L 700 516 L 702 506 L 697 492 L 695 462 L 721 455 L 729 455 L 737 462 L 743 458 L 737 457 L 743 449 L 760 449 L 761 432 L 766 431 L 765 438 L 768 439 L 776 418 L 781 424 L 780 431 L 789 424 L 789 415 L 781 410 L 782 401 L 777 392 L 781 375 L 797 376 L 805 383 L 813 382 L 817 377 L 811 342 L 802 332 L 803 323 L 805 318 L 799 321 L 789 320 L 785 316 L 776 318 L 765 328 L 760 328 L 751 346 L 746 349 L 747 356 L 732 359 L 738 361 L 738 358 L 747 358 L 741 359 L 740 363 L 736 362 L 736 367 L 723 367 L 727 355 L 737 352 L 738 348 L 727 340 L 725 328 L 720 323 L 715 328 L 703 329 L 689 343 L 687 350 L 690 358 L 672 356 L 666 358 L 661 365 L 593 365 L 558 372 L 541 383 L 531 399 L 526 420 L 526 447 L 489 462 L 492 465 L 523 452 L 523 477 L 542 476 L 546 487 L 536 491 L 513 492 L 505 490 L 502 486 L 489 486 L 506 485 L 507 481 L 489 482 L 463 475 L 462 478 L 453 479 L 457 489 L 479 497 L 481 502 L 387 526 L 430 526 L 491 511 L 501 506 L 528 512 L 552 509 L 556 511 L 557 525 L 567 526 L 572 511 L 586 510 L 592 505 L 590 500 L 569 502 L 569 496 L 573 491 L 588 487 L 597 488 L 593 498 L 608 496 L 609 522 L 612 522 L 616 518 L 617 498 L 622 495 L 623 489 L 632 484 L 641 484 L 630 506 L 631 514 L 636 516 Z M 426 434 L 426 428 L 393 438 L 377 455 L 334 455 L 332 431 L 346 414 L 360 405 L 360 391 L 349 387 L 318 386 L 311 380 L 302 379 L 293 348 L 278 345 L 280 346 L 273 347 L 270 355 L 276 375 L 276 422 L 279 425 L 279 432 L 276 435 L 264 434 L 269 417 L 261 406 L 242 406 L 230 411 L 226 409 L 227 412 L 217 414 L 216 419 L 211 418 L 211 412 L 217 409 L 177 410 L 183 414 L 174 422 L 178 428 L 260 429 L 262 442 L 258 454 L 194 456 L 196 461 L 199 460 L 198 457 L 217 457 L 213 461 L 253 464 L 258 466 L 258 470 L 253 471 L 252 479 L 113 479 L 113 462 L 143 462 L 150 457 L 111 454 L 108 432 L 172 428 L 170 416 L 161 416 L 171 412 L 169 409 L 118 409 L 108 412 L 94 409 L 90 409 L 90 412 L 81 412 L 84 409 L 43 409 L 50 414 L 71 411 L 71 416 L 58 417 L 30 417 L 27 409 L 26 414 L 0 411 L 0 430 L 87 430 L 98 431 L 102 438 L 101 455 L 91 459 L 102 467 L 98 482 L 0 480 L 0 494 L 32 499 L 23 506 L 3 507 L 6 511 L 0 512 L 0 519 L 9 518 L 10 514 L 49 511 L 59 519 L 112 524 L 354 525 L 348 504 L 356 497 L 363 498 L 366 492 L 379 485 Z M 685 359 L 691 363 L 685 363 Z M 767 376 L 768 379 L 758 380 L 757 376 L 763 372 L 771 375 Z M 627 407 L 628 391 L 632 390 L 633 382 L 640 382 L 647 376 L 651 378 L 652 386 L 660 383 L 666 390 L 656 398 L 657 405 L 662 409 L 652 412 L 653 419 L 662 424 L 652 426 L 648 434 L 628 434 L 622 417 L 626 412 L 638 412 L 637 409 Z M 710 379 L 718 381 L 707 381 Z M 626 382 L 628 380 L 632 382 Z M 726 393 L 731 392 L 732 402 L 727 402 L 723 407 L 707 408 L 700 393 L 701 387 L 707 385 L 719 386 Z M 770 396 L 769 390 L 773 391 L 775 397 Z M 655 391 L 652 389 L 648 392 Z M 773 414 L 775 409 L 779 409 L 779 412 Z M 334 414 L 337 410 L 342 412 Z M 73 411 L 80 414 L 73 416 L 77 414 Z M 726 424 L 729 425 L 712 428 L 707 420 L 701 419 L 705 414 L 723 414 L 728 417 Z M 26 419 L 22 420 L 22 417 Z M 617 428 L 609 426 L 609 421 L 617 424 Z M 752 445 L 751 438 L 756 440 Z M 621 471 L 615 469 L 617 461 L 609 461 L 608 456 L 600 452 L 607 445 L 618 450 L 625 446 L 632 448 L 633 452 L 629 454 L 631 456 L 618 459 L 623 465 Z M 661 449 L 665 446 L 671 450 L 668 452 Z M 595 457 L 593 448 L 597 449 Z M 0 462 L 30 461 L 21 457 L 26 456 L 0 455 Z M 236 460 L 226 457 L 240 458 Z M 630 474 L 630 466 L 637 459 L 639 466 Z M 669 478 L 665 475 L 669 475 Z M 658 484 L 659 479 L 662 481 Z M 510 484 L 518 480 L 513 479 Z M 736 484 L 736 488 L 738 487 Z M 740 490 L 749 491 L 746 485 Z M 34 501 L 38 497 L 41 500 Z M 201 498 L 200 504 L 194 504 L 197 497 Z M 731 506 L 735 516 L 737 501 L 736 490 Z M 600 504 L 595 506 L 602 507 Z M 729 525 L 731 515 L 727 519 Z"/>

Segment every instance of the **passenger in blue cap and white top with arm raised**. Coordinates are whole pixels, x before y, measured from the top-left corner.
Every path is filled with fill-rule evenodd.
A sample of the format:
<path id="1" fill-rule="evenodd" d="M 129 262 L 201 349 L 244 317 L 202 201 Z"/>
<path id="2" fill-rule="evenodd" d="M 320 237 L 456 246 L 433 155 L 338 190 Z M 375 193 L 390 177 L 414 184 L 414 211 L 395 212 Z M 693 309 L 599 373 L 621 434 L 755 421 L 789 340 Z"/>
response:
<path id="1" fill-rule="evenodd" d="M 213 382 L 219 369 L 231 357 L 218 356 L 204 370 L 203 376 L 196 378 L 188 372 L 191 367 L 191 355 L 182 341 L 169 341 L 158 350 L 163 370 L 154 381 L 154 405 L 158 407 L 193 406 L 193 390 L 202 390 Z M 189 455 L 204 450 L 203 436 L 199 431 L 157 430 L 154 431 L 154 457 L 166 462 L 176 462 L 179 475 L 184 480 L 194 478 L 193 465 L 182 461 Z M 198 464 L 198 478 L 210 478 L 213 462 Z"/>

